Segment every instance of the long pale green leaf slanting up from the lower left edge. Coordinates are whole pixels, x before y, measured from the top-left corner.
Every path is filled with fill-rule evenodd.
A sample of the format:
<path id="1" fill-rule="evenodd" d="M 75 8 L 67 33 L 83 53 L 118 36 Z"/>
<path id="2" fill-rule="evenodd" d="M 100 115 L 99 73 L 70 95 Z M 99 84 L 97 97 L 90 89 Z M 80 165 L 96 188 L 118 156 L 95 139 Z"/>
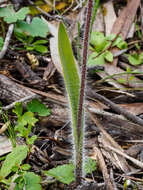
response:
<path id="1" fill-rule="evenodd" d="M 21 162 L 26 158 L 27 151 L 28 148 L 25 145 L 14 148 L 13 151 L 8 154 L 1 167 L 0 178 L 5 178 L 11 173 L 11 170 L 14 166 L 20 165 Z"/>

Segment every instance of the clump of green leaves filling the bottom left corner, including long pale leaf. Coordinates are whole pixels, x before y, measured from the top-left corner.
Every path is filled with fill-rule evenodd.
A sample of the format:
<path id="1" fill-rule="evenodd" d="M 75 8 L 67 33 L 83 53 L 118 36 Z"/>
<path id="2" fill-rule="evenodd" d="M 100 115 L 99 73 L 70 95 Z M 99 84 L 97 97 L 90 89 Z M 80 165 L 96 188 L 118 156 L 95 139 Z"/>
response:
<path id="1" fill-rule="evenodd" d="M 27 146 L 20 145 L 14 148 L 13 151 L 7 155 L 0 170 L 0 182 L 5 184 L 5 188 L 9 189 L 13 181 L 15 183 L 14 190 L 22 190 L 24 186 L 26 190 L 42 189 L 40 185 L 40 176 L 33 172 L 28 172 L 31 167 L 29 164 L 21 164 L 27 157 L 27 154 Z M 14 174 L 9 179 L 6 179 L 10 173 Z"/>

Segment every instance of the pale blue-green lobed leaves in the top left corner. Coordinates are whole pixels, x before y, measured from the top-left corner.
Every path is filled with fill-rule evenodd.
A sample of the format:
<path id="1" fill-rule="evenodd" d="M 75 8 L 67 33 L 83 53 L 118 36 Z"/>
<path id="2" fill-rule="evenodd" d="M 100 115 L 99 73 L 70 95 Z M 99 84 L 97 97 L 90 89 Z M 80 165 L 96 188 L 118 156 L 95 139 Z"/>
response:
<path id="1" fill-rule="evenodd" d="M 22 30 L 29 36 L 45 38 L 49 32 L 47 23 L 39 17 L 34 17 L 32 22 L 28 24 L 24 21 L 29 13 L 28 7 L 23 7 L 17 12 L 14 11 L 12 5 L 0 8 L 0 17 L 8 24 L 15 23 L 17 29 Z"/>

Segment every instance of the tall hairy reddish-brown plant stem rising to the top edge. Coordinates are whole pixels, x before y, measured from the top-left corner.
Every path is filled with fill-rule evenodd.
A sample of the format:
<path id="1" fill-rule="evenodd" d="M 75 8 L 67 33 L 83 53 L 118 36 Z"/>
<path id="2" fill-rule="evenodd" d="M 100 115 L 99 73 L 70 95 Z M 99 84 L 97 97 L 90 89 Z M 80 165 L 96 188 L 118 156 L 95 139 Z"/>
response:
<path id="1" fill-rule="evenodd" d="M 76 183 L 81 183 L 81 177 L 83 175 L 83 130 L 84 130 L 84 94 L 85 94 L 85 82 L 86 82 L 86 70 L 87 70 L 87 55 L 89 45 L 89 34 L 90 34 L 90 23 L 92 18 L 93 0 L 88 0 L 87 16 L 85 23 L 85 33 L 83 42 L 83 58 L 82 58 L 82 73 L 81 73 L 81 85 L 80 85 L 80 97 L 79 97 L 79 108 L 78 108 L 78 121 L 77 121 L 77 136 L 78 143 L 76 147 L 76 169 L 75 177 Z"/>

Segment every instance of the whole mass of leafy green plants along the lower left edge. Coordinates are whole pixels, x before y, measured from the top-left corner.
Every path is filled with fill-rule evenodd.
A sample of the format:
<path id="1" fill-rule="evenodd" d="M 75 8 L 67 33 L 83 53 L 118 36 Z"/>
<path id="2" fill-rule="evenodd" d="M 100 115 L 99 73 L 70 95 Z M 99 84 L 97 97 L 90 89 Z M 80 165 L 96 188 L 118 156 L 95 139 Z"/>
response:
<path id="1" fill-rule="evenodd" d="M 22 103 L 15 104 L 13 109 L 13 113 L 17 116 L 17 124 L 15 126 L 11 124 L 6 117 L 8 113 L 4 114 L 3 112 L 2 114 L 3 120 L 9 122 L 9 126 L 11 127 L 9 130 L 8 126 L 7 134 L 13 144 L 12 152 L 4 158 L 0 169 L 0 183 L 5 189 L 9 189 L 12 182 L 16 184 L 14 190 L 22 190 L 24 186 L 26 190 L 42 189 L 40 185 L 41 177 L 30 172 L 29 169 L 31 166 L 29 164 L 22 164 L 22 162 L 30 154 L 31 147 L 37 139 L 36 135 L 30 136 L 32 127 L 34 127 L 38 121 L 34 113 L 37 113 L 40 117 L 48 116 L 50 110 L 38 99 L 33 99 L 31 102 L 28 102 L 26 107 L 27 111 L 24 112 Z M 23 138 L 26 145 L 16 145 L 16 136 Z"/>

